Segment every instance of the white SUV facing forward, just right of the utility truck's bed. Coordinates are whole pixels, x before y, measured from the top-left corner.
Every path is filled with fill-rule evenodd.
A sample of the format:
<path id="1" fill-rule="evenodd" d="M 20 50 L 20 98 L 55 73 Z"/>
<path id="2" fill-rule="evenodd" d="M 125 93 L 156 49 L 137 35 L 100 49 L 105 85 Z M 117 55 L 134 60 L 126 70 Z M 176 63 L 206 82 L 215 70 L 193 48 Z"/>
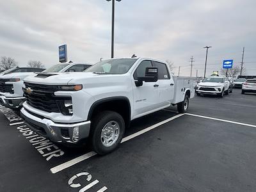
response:
<path id="1" fill-rule="evenodd" d="M 230 83 L 227 77 L 206 77 L 196 85 L 196 95 L 218 95 L 223 97 L 230 92 Z"/>

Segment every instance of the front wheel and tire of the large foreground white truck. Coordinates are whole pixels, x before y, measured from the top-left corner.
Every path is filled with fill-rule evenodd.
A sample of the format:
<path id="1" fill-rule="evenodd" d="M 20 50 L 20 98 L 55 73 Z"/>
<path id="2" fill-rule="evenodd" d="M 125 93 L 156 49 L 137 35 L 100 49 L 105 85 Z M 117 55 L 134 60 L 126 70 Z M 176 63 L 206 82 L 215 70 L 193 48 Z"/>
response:
<path id="1" fill-rule="evenodd" d="M 90 140 L 93 150 L 100 155 L 113 152 L 120 145 L 124 131 L 124 118 L 119 113 L 102 111 L 92 119 Z"/>

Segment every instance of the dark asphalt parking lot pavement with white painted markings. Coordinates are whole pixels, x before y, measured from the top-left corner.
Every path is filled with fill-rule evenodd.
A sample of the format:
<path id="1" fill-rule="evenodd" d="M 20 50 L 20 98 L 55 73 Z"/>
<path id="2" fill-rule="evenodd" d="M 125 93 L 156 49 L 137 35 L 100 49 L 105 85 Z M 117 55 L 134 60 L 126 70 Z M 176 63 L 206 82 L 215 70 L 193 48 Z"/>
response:
<path id="1" fill-rule="evenodd" d="M 256 95 L 190 100 L 134 120 L 98 156 L 37 136 L 0 108 L 0 191 L 256 191 Z M 53 171 L 54 170 L 54 171 Z"/>

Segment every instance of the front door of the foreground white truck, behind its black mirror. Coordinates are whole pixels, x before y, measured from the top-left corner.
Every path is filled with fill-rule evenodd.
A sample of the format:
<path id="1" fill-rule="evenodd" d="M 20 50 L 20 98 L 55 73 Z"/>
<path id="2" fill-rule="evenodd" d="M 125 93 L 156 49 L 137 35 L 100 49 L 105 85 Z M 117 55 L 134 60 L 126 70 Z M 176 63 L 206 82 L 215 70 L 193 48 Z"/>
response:
<path id="1" fill-rule="evenodd" d="M 159 108 L 159 81 L 144 82 L 142 86 L 136 86 L 135 81 L 138 77 L 144 77 L 146 67 L 152 67 L 152 61 L 143 60 L 132 74 L 134 82 L 134 117 L 139 117 L 149 113 L 150 111 Z"/>

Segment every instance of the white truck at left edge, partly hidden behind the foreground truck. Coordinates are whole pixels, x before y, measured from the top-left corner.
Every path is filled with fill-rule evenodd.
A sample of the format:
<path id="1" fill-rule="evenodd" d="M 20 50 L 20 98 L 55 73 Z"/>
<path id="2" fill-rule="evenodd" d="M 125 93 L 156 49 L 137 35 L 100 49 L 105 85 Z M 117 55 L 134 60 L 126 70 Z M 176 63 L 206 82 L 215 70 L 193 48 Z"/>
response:
<path id="1" fill-rule="evenodd" d="M 48 69 L 14 68 L 0 76 L 0 103 L 6 108 L 20 109 L 25 100 L 22 86 L 23 79 L 28 76 L 45 76 L 57 72 L 81 72 L 91 65 L 84 63 L 62 63 Z M 35 73 L 40 72 L 40 73 Z"/>

